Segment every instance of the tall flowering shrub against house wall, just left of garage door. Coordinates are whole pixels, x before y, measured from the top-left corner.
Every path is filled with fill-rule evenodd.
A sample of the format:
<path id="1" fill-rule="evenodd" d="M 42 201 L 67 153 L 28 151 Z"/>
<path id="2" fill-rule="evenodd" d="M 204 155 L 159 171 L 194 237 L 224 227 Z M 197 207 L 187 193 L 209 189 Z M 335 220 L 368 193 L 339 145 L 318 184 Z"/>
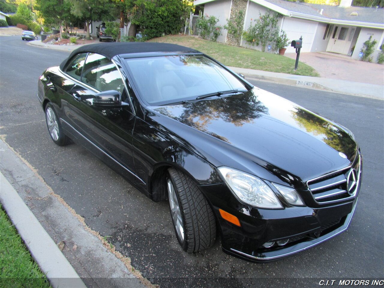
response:
<path id="1" fill-rule="evenodd" d="M 248 27 L 247 31 L 244 31 L 243 37 L 245 41 L 252 45 L 261 45 L 262 51 L 265 52 L 265 46 L 270 43 L 276 43 L 276 39 L 279 36 L 277 31 L 277 23 L 279 21 L 280 14 L 270 14 L 266 12 L 264 15 L 259 13 L 259 18 L 253 20 L 254 25 Z M 252 21 L 252 19 L 251 19 Z"/>

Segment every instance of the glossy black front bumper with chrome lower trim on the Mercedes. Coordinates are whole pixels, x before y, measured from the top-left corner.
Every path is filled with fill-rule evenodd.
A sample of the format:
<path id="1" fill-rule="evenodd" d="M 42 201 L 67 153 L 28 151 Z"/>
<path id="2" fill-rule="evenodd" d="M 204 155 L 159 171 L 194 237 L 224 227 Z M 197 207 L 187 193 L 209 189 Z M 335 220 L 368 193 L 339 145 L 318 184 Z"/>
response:
<path id="1" fill-rule="evenodd" d="M 356 208 L 360 186 L 361 181 L 355 197 L 344 202 L 276 210 L 243 205 L 225 184 L 205 186 L 204 190 L 217 215 L 223 251 L 251 262 L 269 262 L 311 248 L 345 231 Z M 224 220 L 219 208 L 236 216 L 240 227 Z M 283 245 L 278 245 L 278 241 Z M 275 244 L 263 247 L 267 242 Z"/>

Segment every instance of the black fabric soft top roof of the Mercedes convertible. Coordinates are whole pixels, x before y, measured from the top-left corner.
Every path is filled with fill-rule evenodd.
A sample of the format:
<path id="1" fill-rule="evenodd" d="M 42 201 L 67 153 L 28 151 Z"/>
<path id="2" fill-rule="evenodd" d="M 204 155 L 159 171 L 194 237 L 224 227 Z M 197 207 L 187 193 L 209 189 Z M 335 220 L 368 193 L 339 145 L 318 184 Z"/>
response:
<path id="1" fill-rule="evenodd" d="M 60 64 L 60 69 L 63 70 L 67 61 L 70 60 L 74 55 L 78 53 L 98 53 L 111 59 L 113 56 L 120 54 L 131 54 L 131 53 L 153 53 L 153 52 L 164 52 L 164 53 L 201 53 L 192 48 L 169 44 L 169 43 L 156 43 L 156 42 L 118 42 L 118 43 L 100 43 L 100 44 L 89 44 L 84 45 L 74 50 L 71 55 Z"/>

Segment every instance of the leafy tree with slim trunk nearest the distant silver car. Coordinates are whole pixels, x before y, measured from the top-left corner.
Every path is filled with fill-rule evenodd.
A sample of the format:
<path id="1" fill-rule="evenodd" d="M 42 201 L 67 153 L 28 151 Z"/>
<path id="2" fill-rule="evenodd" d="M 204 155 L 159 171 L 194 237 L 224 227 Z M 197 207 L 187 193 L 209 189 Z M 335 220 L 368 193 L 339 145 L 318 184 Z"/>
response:
<path id="1" fill-rule="evenodd" d="M 61 26 L 64 21 L 71 17 L 72 3 L 70 0 L 36 0 L 35 9 L 39 15 L 44 18 L 45 24 L 51 24 L 59 27 L 60 38 Z"/>

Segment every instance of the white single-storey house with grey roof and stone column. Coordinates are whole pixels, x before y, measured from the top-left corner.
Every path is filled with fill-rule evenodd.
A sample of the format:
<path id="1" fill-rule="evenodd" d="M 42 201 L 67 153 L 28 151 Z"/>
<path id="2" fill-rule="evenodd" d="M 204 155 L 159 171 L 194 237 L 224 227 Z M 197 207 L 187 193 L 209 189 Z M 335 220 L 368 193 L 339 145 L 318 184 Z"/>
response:
<path id="1" fill-rule="evenodd" d="M 303 36 L 302 52 L 329 51 L 349 55 L 359 59 L 363 43 L 372 36 L 377 44 L 372 54 L 376 59 L 379 48 L 384 44 L 384 9 L 352 7 L 352 0 L 341 0 L 339 6 L 319 5 L 282 0 L 195 0 L 194 5 L 204 6 L 204 13 L 219 18 L 218 25 L 227 23 L 238 10 L 245 12 L 244 30 L 250 26 L 251 19 L 269 11 L 282 15 L 280 30 L 286 31 L 290 40 Z M 231 37 L 223 30 L 218 38 L 222 43 L 230 43 Z M 242 46 L 261 50 L 242 40 Z M 287 47 L 287 52 L 293 48 Z"/>

